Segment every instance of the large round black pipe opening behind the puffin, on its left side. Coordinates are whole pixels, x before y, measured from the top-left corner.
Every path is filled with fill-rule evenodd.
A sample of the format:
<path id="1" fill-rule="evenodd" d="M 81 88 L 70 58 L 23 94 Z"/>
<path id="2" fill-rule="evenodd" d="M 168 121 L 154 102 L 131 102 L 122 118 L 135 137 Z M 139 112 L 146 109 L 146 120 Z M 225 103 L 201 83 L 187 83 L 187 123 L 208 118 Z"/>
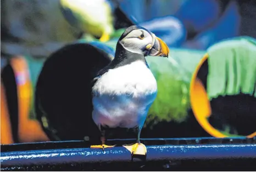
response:
<path id="1" fill-rule="evenodd" d="M 74 43 L 53 53 L 36 84 L 35 111 L 51 140 L 97 136 L 92 121 L 91 81 L 114 50 L 99 42 Z"/>

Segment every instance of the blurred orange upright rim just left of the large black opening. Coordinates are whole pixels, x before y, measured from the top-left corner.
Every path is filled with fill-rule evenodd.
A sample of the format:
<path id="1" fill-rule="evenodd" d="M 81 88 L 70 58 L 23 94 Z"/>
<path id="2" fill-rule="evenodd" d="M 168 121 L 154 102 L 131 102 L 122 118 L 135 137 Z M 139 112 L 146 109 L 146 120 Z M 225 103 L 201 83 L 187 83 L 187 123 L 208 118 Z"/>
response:
<path id="1" fill-rule="evenodd" d="M 30 106 L 32 100 L 32 84 L 30 74 L 25 59 L 16 56 L 10 61 L 13 67 L 15 78 L 21 77 L 20 83 L 17 83 L 18 93 L 18 136 L 20 142 L 48 141 L 48 137 L 41 128 L 38 121 L 30 119 Z M 24 81 L 22 81 L 24 79 Z"/>

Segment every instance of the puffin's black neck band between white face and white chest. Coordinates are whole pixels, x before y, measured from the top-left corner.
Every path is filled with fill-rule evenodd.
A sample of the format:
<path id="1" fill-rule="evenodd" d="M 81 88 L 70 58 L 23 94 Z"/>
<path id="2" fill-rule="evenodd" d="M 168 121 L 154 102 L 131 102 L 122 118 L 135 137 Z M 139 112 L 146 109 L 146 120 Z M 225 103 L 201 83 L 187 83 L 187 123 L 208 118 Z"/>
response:
<path id="1" fill-rule="evenodd" d="M 112 65 L 120 67 L 138 60 L 145 62 L 145 65 L 147 65 L 144 55 L 128 51 L 120 43 L 116 44 L 115 58 L 112 61 Z"/>

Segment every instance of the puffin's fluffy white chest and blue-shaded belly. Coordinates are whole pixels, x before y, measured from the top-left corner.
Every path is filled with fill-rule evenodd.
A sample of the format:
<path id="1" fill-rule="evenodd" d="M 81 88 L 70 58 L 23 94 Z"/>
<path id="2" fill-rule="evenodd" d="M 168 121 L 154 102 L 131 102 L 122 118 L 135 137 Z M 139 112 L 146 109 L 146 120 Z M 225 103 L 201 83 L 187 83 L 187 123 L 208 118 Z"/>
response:
<path id="1" fill-rule="evenodd" d="M 104 73 L 93 88 L 94 122 L 110 128 L 143 125 L 157 95 L 157 82 L 142 61 Z"/>

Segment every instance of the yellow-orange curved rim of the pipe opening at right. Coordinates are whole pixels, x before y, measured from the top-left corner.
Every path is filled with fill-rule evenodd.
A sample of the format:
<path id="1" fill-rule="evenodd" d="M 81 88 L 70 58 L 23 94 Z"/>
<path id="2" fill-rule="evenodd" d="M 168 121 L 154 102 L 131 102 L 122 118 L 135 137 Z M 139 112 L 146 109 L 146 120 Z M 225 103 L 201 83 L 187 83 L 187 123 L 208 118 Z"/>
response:
<path id="1" fill-rule="evenodd" d="M 212 113 L 212 109 L 210 107 L 210 101 L 207 96 L 207 91 L 204 88 L 201 80 L 197 78 L 197 74 L 205 60 L 207 60 L 209 54 L 206 53 L 194 71 L 190 83 L 190 101 L 192 111 L 194 116 L 196 117 L 198 123 L 202 126 L 202 128 L 207 131 L 210 135 L 214 137 L 229 137 L 228 135 L 222 134 L 219 130 L 216 130 L 207 120 L 207 117 Z M 256 131 L 247 137 L 251 138 L 256 136 Z"/>

